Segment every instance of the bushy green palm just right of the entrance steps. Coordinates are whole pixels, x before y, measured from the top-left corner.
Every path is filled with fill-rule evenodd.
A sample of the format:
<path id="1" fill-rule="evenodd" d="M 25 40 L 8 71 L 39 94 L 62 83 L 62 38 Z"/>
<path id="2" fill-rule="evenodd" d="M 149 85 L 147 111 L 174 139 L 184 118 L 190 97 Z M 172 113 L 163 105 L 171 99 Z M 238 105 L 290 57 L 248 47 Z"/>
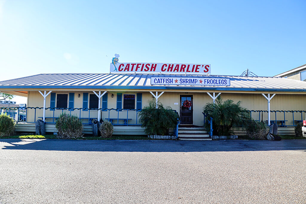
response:
<path id="1" fill-rule="evenodd" d="M 230 135 L 233 126 L 246 125 L 251 120 L 248 109 L 240 106 L 240 101 L 234 103 L 232 100 L 222 101 L 219 96 L 214 103 L 207 103 L 203 112 L 208 118 L 213 118 L 214 135 Z M 206 128 L 210 129 L 208 121 Z"/>

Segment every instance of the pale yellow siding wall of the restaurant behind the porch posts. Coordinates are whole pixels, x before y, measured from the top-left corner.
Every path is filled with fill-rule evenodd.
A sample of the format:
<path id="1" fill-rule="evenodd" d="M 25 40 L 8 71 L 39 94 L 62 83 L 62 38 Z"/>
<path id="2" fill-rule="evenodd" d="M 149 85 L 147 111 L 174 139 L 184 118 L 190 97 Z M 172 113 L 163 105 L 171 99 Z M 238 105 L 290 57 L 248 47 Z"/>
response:
<path id="1" fill-rule="evenodd" d="M 67 91 L 54 91 L 56 93 L 69 93 Z M 74 91 L 74 107 L 82 108 L 83 106 L 83 91 L 77 92 Z M 88 91 L 89 94 L 92 92 Z M 155 100 L 152 98 L 152 95 L 148 92 L 123 92 L 123 94 L 136 94 L 142 93 L 142 107 L 148 105 L 149 100 Z M 155 92 L 154 92 L 155 93 Z M 160 94 L 161 92 L 159 92 Z M 80 94 L 80 98 L 77 95 Z M 114 94 L 114 97 L 111 98 L 111 95 Z M 217 93 L 216 93 L 217 94 Z M 195 125 L 203 125 L 203 106 L 207 102 L 212 102 L 210 96 L 204 93 L 192 93 L 192 92 L 165 92 L 160 98 L 159 102 L 161 102 L 165 106 L 170 106 L 172 109 L 176 110 L 179 113 L 179 105 L 175 105 L 174 103 L 180 102 L 180 95 L 192 95 L 193 96 L 193 124 Z M 221 94 L 223 100 L 232 99 L 234 102 L 241 101 L 241 106 L 249 109 L 249 110 L 267 110 L 268 102 L 266 98 L 264 98 L 261 94 L 233 94 L 233 93 L 222 93 Z M 108 92 L 108 108 L 116 109 L 117 106 L 117 92 Z M 102 106 L 102 103 L 101 103 Z M 28 94 L 28 107 L 43 107 L 43 97 L 39 94 L 38 91 L 29 91 Z M 50 107 L 50 95 L 46 99 L 46 107 Z M 136 104 L 135 104 L 136 108 Z M 295 94 L 276 94 L 274 98 L 271 100 L 271 110 L 306 110 L 306 95 L 295 95 Z M 69 113 L 69 111 L 66 111 Z M 55 110 L 54 116 L 58 117 L 62 113 L 62 110 Z M 75 110 L 72 114 L 79 116 L 79 110 Z M 89 111 L 81 111 L 81 117 L 88 118 Z M 36 118 L 34 119 L 34 110 L 28 109 L 28 122 L 34 122 L 38 117 L 42 117 L 43 112 L 42 109 L 36 110 Z M 90 111 L 90 117 L 96 118 L 97 111 Z M 253 114 L 255 119 L 258 120 L 258 113 Z M 53 111 L 46 111 L 46 117 L 53 117 Z M 103 120 L 108 117 L 108 111 L 102 112 Z M 110 118 L 117 118 L 118 112 L 115 110 L 110 111 Z M 119 118 L 125 118 L 126 111 L 119 112 Z M 261 117 L 261 116 L 260 116 Z M 263 120 L 267 120 L 267 113 L 263 113 Z M 295 113 L 295 120 L 300 120 L 300 113 Z M 303 117 L 305 115 L 303 114 Z M 129 123 L 136 123 L 136 112 L 129 111 L 129 118 L 132 120 Z M 274 120 L 275 114 L 271 114 L 271 119 Z M 277 113 L 278 120 L 283 118 L 283 113 Z M 292 113 L 286 113 L 286 120 L 289 120 L 287 123 L 292 123 Z M 291 121 L 290 121 L 291 120 Z M 50 122 L 50 119 L 47 119 L 47 122 Z M 88 120 L 87 120 L 88 121 Z M 83 120 L 86 122 L 86 119 Z M 117 122 L 117 121 L 114 121 Z M 122 123 L 120 121 L 119 123 Z M 137 123 L 139 123 L 137 121 Z"/>

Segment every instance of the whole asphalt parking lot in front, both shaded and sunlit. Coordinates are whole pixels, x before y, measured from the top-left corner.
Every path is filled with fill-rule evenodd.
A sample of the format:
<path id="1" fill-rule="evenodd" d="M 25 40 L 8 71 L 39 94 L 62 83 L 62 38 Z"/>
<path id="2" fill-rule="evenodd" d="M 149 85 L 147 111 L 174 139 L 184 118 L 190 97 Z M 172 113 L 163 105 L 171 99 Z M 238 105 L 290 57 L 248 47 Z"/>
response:
<path id="1" fill-rule="evenodd" d="M 0 139 L 0 203 L 305 203 L 306 140 Z"/>

